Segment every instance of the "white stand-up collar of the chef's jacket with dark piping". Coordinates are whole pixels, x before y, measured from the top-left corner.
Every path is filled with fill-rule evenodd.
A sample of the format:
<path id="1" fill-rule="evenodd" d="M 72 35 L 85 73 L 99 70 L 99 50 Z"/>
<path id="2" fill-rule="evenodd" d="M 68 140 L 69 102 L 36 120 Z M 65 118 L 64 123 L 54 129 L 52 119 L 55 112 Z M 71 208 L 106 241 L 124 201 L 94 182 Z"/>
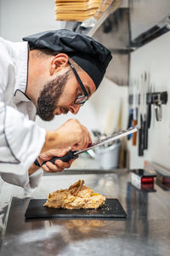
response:
<path id="1" fill-rule="evenodd" d="M 17 65 L 16 82 L 14 87 L 14 103 L 30 102 L 31 100 L 26 96 L 26 86 L 28 79 L 28 51 L 29 46 L 27 42 L 15 44 L 15 61 Z"/>

